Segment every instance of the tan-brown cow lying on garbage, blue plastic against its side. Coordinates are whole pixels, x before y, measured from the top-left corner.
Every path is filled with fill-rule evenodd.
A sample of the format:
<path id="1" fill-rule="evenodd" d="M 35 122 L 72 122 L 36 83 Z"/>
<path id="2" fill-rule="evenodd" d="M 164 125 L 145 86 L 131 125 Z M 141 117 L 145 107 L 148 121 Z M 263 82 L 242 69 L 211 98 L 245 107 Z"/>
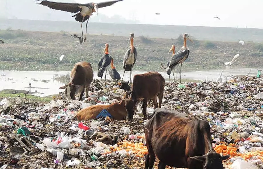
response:
<path id="1" fill-rule="evenodd" d="M 125 100 L 108 105 L 93 105 L 80 110 L 75 117 L 78 121 L 95 119 L 103 109 L 106 109 L 113 116 L 114 120 L 124 120 L 127 117 L 124 105 Z"/>

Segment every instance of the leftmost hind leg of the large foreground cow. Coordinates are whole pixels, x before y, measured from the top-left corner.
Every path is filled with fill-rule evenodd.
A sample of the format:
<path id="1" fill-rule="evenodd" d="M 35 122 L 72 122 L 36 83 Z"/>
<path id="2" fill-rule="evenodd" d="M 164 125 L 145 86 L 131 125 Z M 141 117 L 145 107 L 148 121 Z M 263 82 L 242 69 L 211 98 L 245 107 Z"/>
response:
<path id="1" fill-rule="evenodd" d="M 148 155 L 145 160 L 145 169 L 153 169 L 153 165 L 155 162 L 155 154 L 150 139 L 148 138 L 148 135 L 149 135 L 148 129 L 145 129 L 145 141 L 146 141 L 146 147 L 148 149 Z"/>

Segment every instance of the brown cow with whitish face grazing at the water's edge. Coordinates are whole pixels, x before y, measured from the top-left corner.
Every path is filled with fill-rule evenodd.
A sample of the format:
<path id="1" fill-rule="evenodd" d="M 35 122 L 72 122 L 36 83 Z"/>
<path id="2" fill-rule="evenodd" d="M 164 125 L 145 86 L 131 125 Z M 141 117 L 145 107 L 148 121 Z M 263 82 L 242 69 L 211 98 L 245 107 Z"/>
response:
<path id="1" fill-rule="evenodd" d="M 93 71 L 88 62 L 77 62 L 70 73 L 70 82 L 60 89 L 65 89 L 68 100 L 75 100 L 75 94 L 80 93 L 79 100 L 82 99 L 84 88 L 88 97 L 89 85 L 93 80 Z"/>

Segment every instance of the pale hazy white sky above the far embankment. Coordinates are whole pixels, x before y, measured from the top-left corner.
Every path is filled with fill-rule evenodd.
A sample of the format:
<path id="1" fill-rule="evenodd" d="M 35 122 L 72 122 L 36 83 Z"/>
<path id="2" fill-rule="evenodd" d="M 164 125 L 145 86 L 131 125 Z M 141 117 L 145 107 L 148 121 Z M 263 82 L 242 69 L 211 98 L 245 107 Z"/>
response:
<path id="1" fill-rule="evenodd" d="M 107 0 L 93 2 L 101 1 Z M 98 9 L 98 14 L 122 15 L 144 24 L 263 28 L 262 6 L 262 0 L 124 0 Z M 215 16 L 221 20 L 213 18 Z"/>

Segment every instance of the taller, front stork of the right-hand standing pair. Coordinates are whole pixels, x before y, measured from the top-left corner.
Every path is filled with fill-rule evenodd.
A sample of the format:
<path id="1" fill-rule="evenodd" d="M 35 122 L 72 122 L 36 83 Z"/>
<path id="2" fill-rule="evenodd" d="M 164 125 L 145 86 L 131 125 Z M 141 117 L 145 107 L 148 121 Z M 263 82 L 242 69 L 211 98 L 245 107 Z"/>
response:
<path id="1" fill-rule="evenodd" d="M 183 62 L 188 58 L 189 53 L 190 53 L 190 50 L 186 47 L 186 40 L 187 39 L 189 41 L 193 42 L 188 34 L 184 34 L 184 46 L 182 46 L 182 48 L 179 51 L 177 51 L 177 53 L 175 53 L 172 56 L 172 58 L 170 59 L 170 62 L 169 62 L 169 66 L 166 68 L 166 73 L 169 74 L 169 73 L 171 73 L 172 69 L 174 69 L 174 67 L 176 65 L 181 63 L 180 72 L 179 72 L 179 74 L 180 74 L 180 83 L 181 83 L 181 69 L 182 69 L 182 65 L 183 65 Z"/>

